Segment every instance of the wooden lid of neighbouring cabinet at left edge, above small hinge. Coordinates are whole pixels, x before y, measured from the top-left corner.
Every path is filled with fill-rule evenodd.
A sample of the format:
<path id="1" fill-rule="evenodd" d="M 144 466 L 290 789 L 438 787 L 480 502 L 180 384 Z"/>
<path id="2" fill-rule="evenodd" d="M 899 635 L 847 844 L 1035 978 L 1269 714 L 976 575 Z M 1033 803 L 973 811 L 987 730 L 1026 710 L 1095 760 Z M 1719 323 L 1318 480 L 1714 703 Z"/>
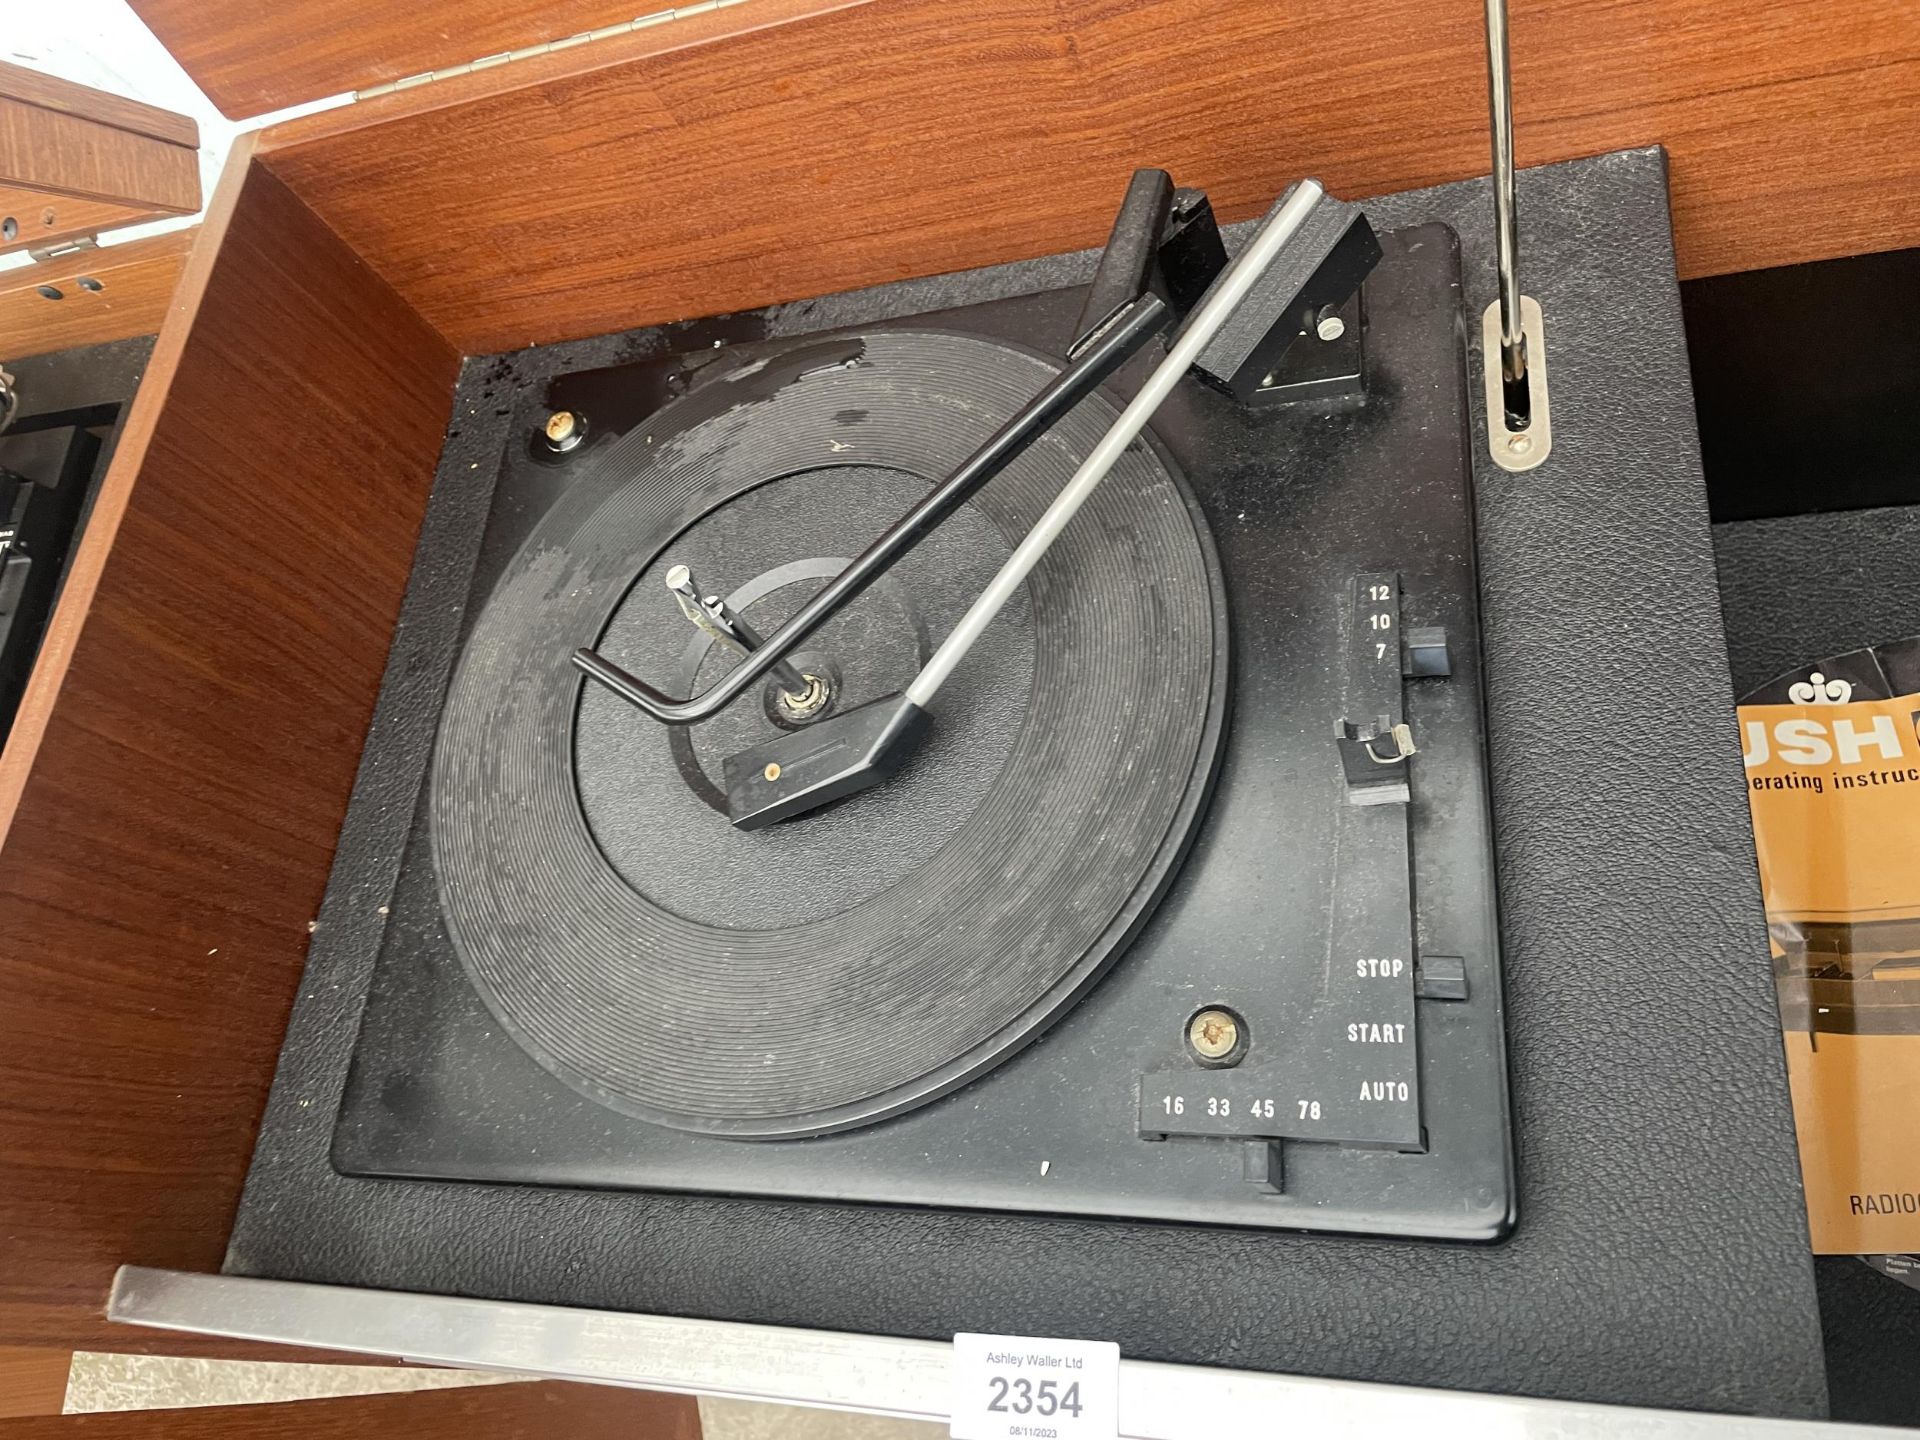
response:
<path id="1" fill-rule="evenodd" d="M 200 209 L 200 156 L 192 146 L 0 96 L 0 184 L 150 215 L 192 215 Z"/>

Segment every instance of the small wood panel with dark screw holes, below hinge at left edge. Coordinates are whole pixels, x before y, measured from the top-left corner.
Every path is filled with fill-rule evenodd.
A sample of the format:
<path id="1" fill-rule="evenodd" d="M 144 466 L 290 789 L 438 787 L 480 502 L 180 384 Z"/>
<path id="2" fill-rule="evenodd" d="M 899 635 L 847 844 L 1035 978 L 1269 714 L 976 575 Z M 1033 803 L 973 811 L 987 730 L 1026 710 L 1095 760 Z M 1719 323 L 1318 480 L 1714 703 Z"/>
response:
<path id="1" fill-rule="evenodd" d="M 196 234 L 198 227 L 169 230 L 0 271 L 0 353 L 44 355 L 157 332 Z"/>

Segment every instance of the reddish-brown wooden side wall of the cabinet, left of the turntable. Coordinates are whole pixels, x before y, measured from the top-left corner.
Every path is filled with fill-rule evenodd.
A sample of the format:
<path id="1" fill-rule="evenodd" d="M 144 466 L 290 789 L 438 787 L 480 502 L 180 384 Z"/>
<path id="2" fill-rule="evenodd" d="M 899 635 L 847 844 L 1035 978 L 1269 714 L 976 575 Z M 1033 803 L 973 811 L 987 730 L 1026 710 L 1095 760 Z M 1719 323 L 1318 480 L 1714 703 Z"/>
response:
<path id="1" fill-rule="evenodd" d="M 188 1348 L 100 1308 L 219 1265 L 451 403 L 248 152 L 0 755 L 0 1344 Z"/>

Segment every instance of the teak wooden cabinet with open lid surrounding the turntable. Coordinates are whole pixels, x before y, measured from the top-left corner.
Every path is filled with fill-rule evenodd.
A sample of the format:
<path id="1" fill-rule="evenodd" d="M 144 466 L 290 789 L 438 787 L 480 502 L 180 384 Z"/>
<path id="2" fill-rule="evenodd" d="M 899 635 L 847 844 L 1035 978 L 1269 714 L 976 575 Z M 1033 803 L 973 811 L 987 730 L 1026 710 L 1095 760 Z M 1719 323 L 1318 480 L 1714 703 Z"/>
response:
<path id="1" fill-rule="evenodd" d="M 236 146 L 0 756 L 0 1344 L 194 1346 L 102 1302 L 221 1263 L 463 357 L 1096 244 L 1137 163 L 1486 169 L 1471 0 L 134 10 L 232 113 L 459 73 Z M 1920 10 L 1513 35 L 1521 161 L 1668 146 L 1682 275 L 1920 242 Z"/>

